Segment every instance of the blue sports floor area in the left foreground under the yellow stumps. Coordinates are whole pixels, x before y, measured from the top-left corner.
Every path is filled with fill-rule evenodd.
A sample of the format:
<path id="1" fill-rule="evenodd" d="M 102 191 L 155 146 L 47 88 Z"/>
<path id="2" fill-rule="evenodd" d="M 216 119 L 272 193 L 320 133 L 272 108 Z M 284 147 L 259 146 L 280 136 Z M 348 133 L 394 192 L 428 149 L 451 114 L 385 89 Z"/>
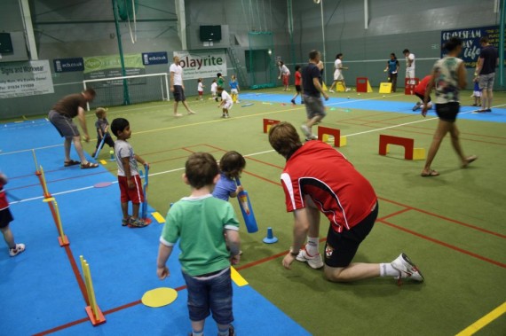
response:
<path id="1" fill-rule="evenodd" d="M 155 273 L 162 224 L 122 227 L 115 176 L 104 166 L 63 168 L 62 139 L 49 121 L 2 124 L 0 144 L 0 169 L 10 177 L 5 189 L 15 218 L 12 231 L 17 242 L 27 246 L 23 254 L 10 258 L 0 244 L 0 335 L 186 335 L 191 328 L 178 250 L 168 264 L 170 278 L 161 282 Z M 59 246 L 31 148 L 37 148 L 36 160 L 58 203 L 69 246 Z M 114 184 L 94 187 L 101 182 Z M 97 302 L 107 319 L 96 327 L 84 310 L 80 255 L 90 264 Z M 177 289 L 178 299 L 158 309 L 140 302 L 146 291 L 161 286 Z M 234 285 L 233 291 L 239 334 L 309 334 L 249 285 Z M 275 321 L 276 328 L 263 321 Z M 205 332 L 217 332 L 211 318 Z"/>

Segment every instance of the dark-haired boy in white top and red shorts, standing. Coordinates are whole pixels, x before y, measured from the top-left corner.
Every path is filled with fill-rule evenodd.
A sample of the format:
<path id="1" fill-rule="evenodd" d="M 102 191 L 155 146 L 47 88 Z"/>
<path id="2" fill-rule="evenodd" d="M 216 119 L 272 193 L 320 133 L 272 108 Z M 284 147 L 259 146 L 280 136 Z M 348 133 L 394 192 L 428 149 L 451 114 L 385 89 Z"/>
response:
<path id="1" fill-rule="evenodd" d="M 130 123 L 124 118 L 116 118 L 111 130 L 117 137 L 115 142 L 115 158 L 118 164 L 118 184 L 121 191 L 123 226 L 143 228 L 147 226 L 142 218 L 138 218 L 138 208 L 144 202 L 142 183 L 138 176 L 137 161 L 149 168 L 149 164 L 133 152 L 127 142 L 131 137 Z M 128 202 L 131 201 L 132 215 L 128 215 Z"/>

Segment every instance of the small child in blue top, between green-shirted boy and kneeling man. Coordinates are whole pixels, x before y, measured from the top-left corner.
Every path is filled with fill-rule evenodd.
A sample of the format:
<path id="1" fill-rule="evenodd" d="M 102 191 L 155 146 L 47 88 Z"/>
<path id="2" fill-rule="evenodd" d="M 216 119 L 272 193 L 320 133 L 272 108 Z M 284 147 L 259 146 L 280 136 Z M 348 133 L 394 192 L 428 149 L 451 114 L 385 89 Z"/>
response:
<path id="1" fill-rule="evenodd" d="M 245 167 L 246 160 L 239 152 L 225 152 L 219 161 L 220 176 L 212 195 L 226 201 L 230 197 L 237 197 L 243 189 L 241 185 L 235 184 L 235 179 L 241 176 L 242 169 Z"/>

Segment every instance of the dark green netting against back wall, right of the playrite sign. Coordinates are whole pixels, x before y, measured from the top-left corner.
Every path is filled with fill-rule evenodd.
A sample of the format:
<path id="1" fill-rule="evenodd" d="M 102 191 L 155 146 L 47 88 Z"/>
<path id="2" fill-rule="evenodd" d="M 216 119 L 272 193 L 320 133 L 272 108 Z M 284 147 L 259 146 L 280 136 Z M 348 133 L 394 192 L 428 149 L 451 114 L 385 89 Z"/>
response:
<path id="1" fill-rule="evenodd" d="M 252 90 L 276 86 L 276 66 L 272 32 L 248 32 L 249 50 L 246 51 L 246 69 Z"/>

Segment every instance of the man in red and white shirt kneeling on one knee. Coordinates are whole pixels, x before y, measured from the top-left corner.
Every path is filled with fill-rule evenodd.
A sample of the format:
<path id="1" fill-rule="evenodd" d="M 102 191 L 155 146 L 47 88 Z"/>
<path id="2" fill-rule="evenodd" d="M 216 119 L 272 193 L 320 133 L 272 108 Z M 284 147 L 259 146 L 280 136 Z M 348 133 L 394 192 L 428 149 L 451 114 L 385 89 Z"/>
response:
<path id="1" fill-rule="evenodd" d="M 393 262 L 352 262 L 378 215 L 376 193 L 344 155 L 320 141 L 302 145 L 296 129 L 281 122 L 269 130 L 269 143 L 287 159 L 281 174 L 287 211 L 295 217 L 293 245 L 283 259 L 290 269 L 295 260 L 312 269 L 325 267 L 330 281 L 350 282 L 368 277 L 410 277 L 423 281 L 406 254 Z M 325 264 L 319 253 L 320 213 L 327 216 Z M 305 235 L 307 244 L 303 246 Z M 302 248 L 301 248 L 302 247 Z"/>

